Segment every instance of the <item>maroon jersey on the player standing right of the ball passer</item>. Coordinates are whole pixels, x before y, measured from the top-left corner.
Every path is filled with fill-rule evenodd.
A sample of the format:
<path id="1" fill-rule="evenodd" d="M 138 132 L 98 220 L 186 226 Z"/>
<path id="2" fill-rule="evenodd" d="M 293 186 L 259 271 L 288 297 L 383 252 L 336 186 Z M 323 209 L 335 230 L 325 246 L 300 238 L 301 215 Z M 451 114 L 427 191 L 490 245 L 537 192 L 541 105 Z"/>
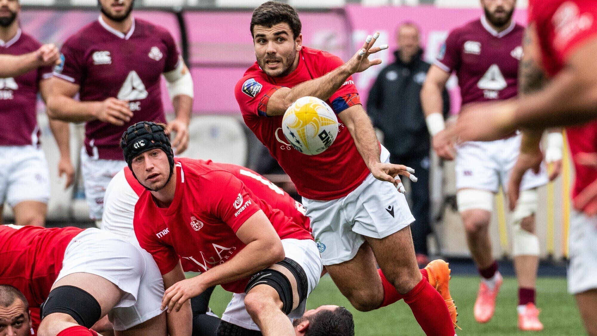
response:
<path id="1" fill-rule="evenodd" d="M 456 71 L 462 105 L 509 99 L 518 94 L 523 35 L 514 20 L 498 33 L 483 16 L 450 32 L 434 64 Z"/>

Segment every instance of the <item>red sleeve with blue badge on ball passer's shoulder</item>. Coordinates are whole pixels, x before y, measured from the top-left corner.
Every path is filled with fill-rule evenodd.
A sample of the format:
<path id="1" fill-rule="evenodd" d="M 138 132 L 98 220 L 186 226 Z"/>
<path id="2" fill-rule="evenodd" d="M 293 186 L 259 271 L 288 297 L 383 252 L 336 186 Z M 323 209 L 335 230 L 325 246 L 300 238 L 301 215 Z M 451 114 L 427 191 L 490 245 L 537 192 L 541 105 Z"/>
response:
<path id="1" fill-rule="evenodd" d="M 267 82 L 259 72 L 253 72 L 236 83 L 234 94 L 243 115 L 266 117 L 267 102 L 279 88 L 281 86 Z"/>

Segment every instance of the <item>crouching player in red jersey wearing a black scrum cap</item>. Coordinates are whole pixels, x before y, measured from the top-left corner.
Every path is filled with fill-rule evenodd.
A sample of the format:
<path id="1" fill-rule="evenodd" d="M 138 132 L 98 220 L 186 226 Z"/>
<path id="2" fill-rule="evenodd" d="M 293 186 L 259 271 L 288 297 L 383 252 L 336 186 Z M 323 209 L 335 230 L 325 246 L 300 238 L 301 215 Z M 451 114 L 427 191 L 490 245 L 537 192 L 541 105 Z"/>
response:
<path id="1" fill-rule="evenodd" d="M 309 231 L 232 173 L 175 160 L 160 124 L 130 126 L 121 146 L 147 189 L 135 205 L 133 225 L 168 288 L 162 306 L 190 313 L 187 300 L 221 285 L 235 293 L 232 306 L 245 311 L 231 323 L 252 329 L 255 322 L 264 335 L 294 335 L 288 317 L 303 315 L 323 267 Z M 185 280 L 183 268 L 201 274 Z"/>

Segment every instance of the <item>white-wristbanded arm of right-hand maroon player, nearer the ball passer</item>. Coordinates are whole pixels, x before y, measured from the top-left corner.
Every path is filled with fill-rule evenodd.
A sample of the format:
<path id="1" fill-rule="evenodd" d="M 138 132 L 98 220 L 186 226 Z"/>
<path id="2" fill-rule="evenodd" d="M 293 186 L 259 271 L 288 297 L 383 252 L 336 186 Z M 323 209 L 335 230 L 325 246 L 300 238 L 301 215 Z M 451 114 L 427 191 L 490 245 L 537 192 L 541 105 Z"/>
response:
<path id="1" fill-rule="evenodd" d="M 432 136 L 433 150 L 444 160 L 454 160 L 453 141 L 448 132 L 444 130 L 444 100 L 442 98 L 449 78 L 449 72 L 432 65 L 421 88 L 421 105 L 427 129 Z"/>

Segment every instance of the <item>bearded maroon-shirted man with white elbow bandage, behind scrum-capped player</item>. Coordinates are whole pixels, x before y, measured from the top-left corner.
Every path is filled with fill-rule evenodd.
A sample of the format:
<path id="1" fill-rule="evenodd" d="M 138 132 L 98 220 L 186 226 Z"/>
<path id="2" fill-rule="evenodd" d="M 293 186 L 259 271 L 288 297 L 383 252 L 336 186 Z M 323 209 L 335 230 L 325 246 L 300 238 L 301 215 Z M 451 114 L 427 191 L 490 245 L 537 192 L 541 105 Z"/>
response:
<path id="1" fill-rule="evenodd" d="M 189 142 L 190 72 L 166 29 L 131 16 L 133 1 L 99 0 L 99 19 L 64 42 L 48 97 L 51 118 L 87 122 L 82 174 L 90 217 L 98 226 L 106 186 L 127 165 L 119 148 L 122 132 L 141 120 L 165 122 L 161 74 L 176 113 L 168 124 L 176 132 L 176 152 Z M 80 101 L 73 99 L 76 93 Z"/>

